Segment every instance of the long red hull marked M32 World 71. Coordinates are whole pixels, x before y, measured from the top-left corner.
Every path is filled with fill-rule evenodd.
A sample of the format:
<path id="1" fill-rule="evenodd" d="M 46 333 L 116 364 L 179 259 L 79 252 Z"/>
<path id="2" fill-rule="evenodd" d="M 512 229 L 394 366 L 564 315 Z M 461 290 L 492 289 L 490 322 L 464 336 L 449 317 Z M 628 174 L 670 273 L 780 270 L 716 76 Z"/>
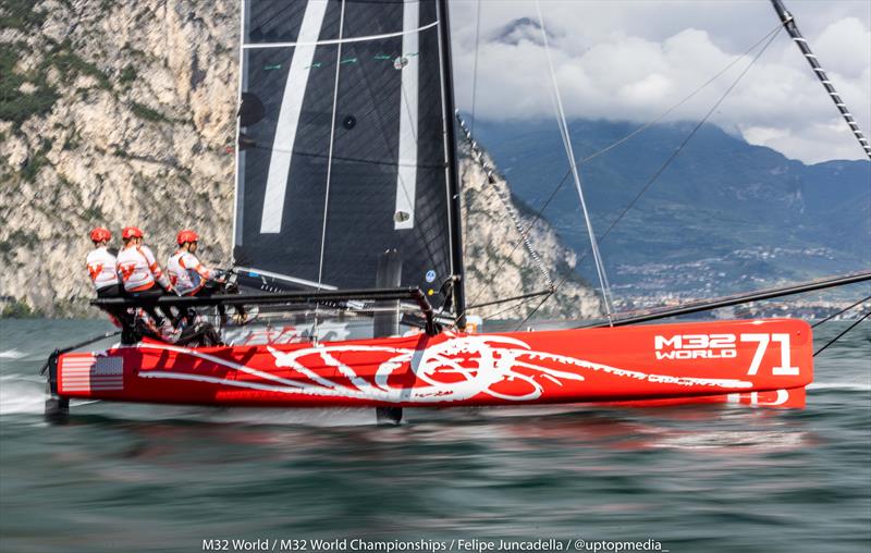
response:
<path id="1" fill-rule="evenodd" d="M 726 402 L 803 406 L 810 327 L 725 321 L 60 357 L 58 393 L 283 407 Z"/>

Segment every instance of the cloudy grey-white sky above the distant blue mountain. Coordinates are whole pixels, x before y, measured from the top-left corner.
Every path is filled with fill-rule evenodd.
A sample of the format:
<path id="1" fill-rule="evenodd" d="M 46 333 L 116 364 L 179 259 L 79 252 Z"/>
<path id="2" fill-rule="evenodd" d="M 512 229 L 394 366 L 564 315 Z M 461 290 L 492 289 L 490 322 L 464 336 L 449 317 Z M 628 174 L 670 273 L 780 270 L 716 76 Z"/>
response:
<path id="1" fill-rule="evenodd" d="M 871 133 L 871 0 L 785 3 L 856 121 Z M 648 122 L 737 59 L 666 118 L 698 121 L 759 48 L 744 52 L 780 23 L 768 0 L 542 0 L 541 11 L 569 119 Z M 456 102 L 465 112 L 473 103 L 477 13 L 474 0 L 451 1 Z M 540 32 L 511 26 L 522 17 L 538 21 L 535 0 L 483 0 L 480 14 L 478 120 L 553 118 Z M 866 158 L 785 29 L 711 122 L 806 163 Z"/>

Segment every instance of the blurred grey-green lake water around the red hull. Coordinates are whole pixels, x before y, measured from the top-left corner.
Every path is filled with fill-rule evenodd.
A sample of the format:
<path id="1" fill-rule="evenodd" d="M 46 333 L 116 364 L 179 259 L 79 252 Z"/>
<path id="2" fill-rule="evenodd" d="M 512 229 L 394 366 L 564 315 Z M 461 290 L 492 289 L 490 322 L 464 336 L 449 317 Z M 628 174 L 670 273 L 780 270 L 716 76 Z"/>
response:
<path id="1" fill-rule="evenodd" d="M 0 321 L 0 551 L 871 548 L 869 322 L 815 359 L 803 410 L 420 409 L 383 428 L 369 409 L 74 402 L 45 423 L 46 357 L 107 329 Z"/>

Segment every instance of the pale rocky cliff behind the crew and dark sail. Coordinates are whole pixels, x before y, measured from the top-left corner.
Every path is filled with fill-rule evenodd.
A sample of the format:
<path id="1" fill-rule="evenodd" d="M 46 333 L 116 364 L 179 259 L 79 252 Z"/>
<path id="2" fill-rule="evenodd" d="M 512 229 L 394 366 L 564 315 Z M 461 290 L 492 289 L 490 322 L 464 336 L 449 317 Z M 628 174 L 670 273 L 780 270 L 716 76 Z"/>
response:
<path id="1" fill-rule="evenodd" d="M 3 0 L 0 295 L 48 315 L 93 314 L 83 265 L 97 224 L 137 224 L 154 245 L 196 228 L 205 260 L 229 260 L 237 10 L 235 0 Z M 465 162 L 464 175 L 469 299 L 547 287 L 514 249 L 519 235 L 480 170 Z M 530 239 L 552 279 L 572 271 L 545 223 Z M 540 315 L 598 311 L 574 276 L 559 294 Z"/>

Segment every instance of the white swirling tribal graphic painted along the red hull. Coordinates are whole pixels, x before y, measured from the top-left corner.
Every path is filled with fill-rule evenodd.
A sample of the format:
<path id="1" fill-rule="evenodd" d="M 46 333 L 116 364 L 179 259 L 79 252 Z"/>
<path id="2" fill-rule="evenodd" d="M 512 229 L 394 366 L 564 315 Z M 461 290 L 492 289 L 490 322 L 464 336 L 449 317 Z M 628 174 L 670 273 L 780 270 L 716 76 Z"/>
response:
<path id="1" fill-rule="evenodd" d="M 608 365 L 596 364 L 530 349 L 520 340 L 500 335 L 463 335 L 431 344 L 422 349 L 390 347 L 379 345 L 322 345 L 292 352 L 281 352 L 267 346 L 275 361 L 275 367 L 292 369 L 302 378 L 284 378 L 246 365 L 236 364 L 220 357 L 179 346 L 163 344 L 139 344 L 140 349 L 163 349 L 177 352 L 199 359 L 212 361 L 225 368 L 256 377 L 259 381 L 245 381 L 219 378 L 207 374 L 148 370 L 138 373 L 142 378 L 177 379 L 222 384 L 233 388 L 247 388 L 259 391 L 287 394 L 314 395 L 323 397 L 347 397 L 387 403 L 439 403 L 469 400 L 479 394 L 490 397 L 524 402 L 541 397 L 542 382 L 562 386 L 567 381 L 585 380 L 581 372 L 604 372 L 611 376 L 634 379 L 650 383 L 676 384 L 680 386 L 701 386 L 716 393 L 725 389 L 749 389 L 751 382 L 737 379 L 706 379 L 673 377 L 626 370 Z M 382 360 L 375 378 L 361 377 L 353 367 L 342 362 L 341 354 L 381 353 Z M 543 366 L 559 364 L 560 369 Z M 347 383 L 338 382 L 322 372 L 323 367 L 332 367 Z M 397 385 L 391 378 L 414 374 L 413 385 Z M 336 377 L 333 377 L 336 378 Z M 499 390 L 500 384 L 523 382 L 524 389 L 512 393 Z"/>

